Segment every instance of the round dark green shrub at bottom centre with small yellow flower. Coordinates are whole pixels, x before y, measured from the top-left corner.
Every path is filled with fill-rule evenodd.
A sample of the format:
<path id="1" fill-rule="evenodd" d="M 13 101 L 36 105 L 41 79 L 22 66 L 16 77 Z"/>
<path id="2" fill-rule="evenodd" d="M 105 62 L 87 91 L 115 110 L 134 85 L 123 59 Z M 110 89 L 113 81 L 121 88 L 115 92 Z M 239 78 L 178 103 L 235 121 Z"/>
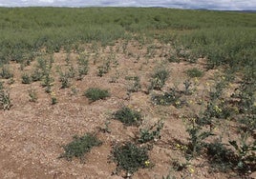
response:
<path id="1" fill-rule="evenodd" d="M 127 171 L 127 174 L 134 173 L 140 168 L 147 167 L 149 160 L 147 149 L 139 148 L 130 142 L 114 146 L 112 151 L 117 169 Z"/>

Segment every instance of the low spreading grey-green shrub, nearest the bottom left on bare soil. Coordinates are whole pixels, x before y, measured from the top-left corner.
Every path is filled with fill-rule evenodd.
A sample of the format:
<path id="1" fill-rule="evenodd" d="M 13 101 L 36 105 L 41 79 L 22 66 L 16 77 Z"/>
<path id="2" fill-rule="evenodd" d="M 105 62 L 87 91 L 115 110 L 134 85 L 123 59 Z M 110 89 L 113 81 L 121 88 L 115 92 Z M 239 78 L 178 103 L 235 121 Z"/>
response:
<path id="1" fill-rule="evenodd" d="M 84 136 L 74 136 L 74 141 L 64 146 L 65 152 L 59 158 L 66 158 L 71 161 L 73 157 L 84 159 L 84 154 L 89 152 L 93 147 L 100 146 L 102 142 L 96 138 L 95 134 L 86 133 Z"/>

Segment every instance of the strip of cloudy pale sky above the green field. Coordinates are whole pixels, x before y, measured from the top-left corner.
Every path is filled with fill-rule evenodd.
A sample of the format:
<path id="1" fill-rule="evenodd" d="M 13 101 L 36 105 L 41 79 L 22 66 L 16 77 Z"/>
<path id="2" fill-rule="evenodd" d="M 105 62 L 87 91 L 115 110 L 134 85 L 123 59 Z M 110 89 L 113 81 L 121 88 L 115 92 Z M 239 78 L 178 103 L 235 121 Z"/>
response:
<path id="1" fill-rule="evenodd" d="M 256 0 L 0 0 L 0 7 L 164 7 L 256 10 Z"/>

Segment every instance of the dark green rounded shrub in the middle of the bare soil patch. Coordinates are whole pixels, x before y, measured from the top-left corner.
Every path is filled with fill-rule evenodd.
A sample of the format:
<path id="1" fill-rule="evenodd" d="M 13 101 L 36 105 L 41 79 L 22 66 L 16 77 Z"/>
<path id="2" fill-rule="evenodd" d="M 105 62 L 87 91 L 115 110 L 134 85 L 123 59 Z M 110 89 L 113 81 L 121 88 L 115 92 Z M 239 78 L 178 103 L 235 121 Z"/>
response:
<path id="1" fill-rule="evenodd" d="M 139 125 L 139 122 L 141 121 L 141 114 L 139 111 L 135 111 L 127 107 L 118 109 L 114 113 L 114 117 L 126 126 Z"/>

